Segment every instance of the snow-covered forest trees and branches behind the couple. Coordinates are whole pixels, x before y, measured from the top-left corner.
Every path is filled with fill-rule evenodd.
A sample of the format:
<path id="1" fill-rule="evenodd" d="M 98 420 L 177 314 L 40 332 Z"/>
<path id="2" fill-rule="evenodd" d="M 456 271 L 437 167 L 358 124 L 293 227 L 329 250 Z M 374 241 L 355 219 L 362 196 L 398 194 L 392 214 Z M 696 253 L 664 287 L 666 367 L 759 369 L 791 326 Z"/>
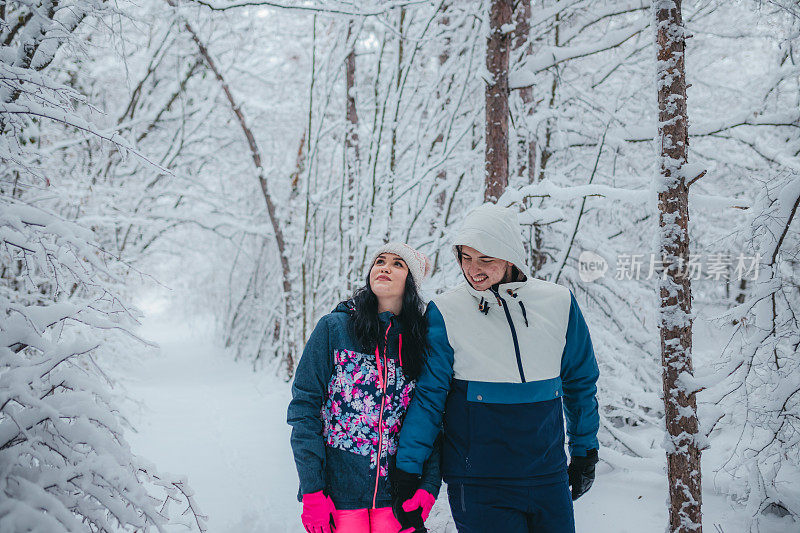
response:
<path id="1" fill-rule="evenodd" d="M 179 520 L 170 502 L 204 529 L 185 481 L 126 443 L 113 369 L 147 344 L 135 304 L 168 287 L 285 383 L 380 243 L 432 258 L 428 296 L 458 283 L 450 237 L 485 200 L 519 210 L 534 275 L 584 310 L 603 461 L 674 455 L 662 358 L 680 346 L 704 483 L 744 528 L 796 526 L 800 8 L 668 3 L 684 311 L 723 338 L 695 336 L 691 372 L 656 259 L 678 79 L 661 4 L 0 0 L 0 529 L 154 526 Z"/>

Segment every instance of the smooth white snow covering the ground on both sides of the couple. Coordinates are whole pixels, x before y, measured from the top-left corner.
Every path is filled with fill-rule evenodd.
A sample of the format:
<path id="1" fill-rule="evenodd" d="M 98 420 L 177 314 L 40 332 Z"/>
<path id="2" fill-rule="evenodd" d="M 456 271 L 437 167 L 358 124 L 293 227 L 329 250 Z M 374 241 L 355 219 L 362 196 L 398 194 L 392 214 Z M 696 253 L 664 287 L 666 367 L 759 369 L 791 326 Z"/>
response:
<path id="1" fill-rule="evenodd" d="M 211 533 L 302 532 L 286 424 L 288 384 L 233 361 L 201 322 L 155 313 L 141 333 L 160 349 L 125 372 L 127 393 L 138 405 L 129 413 L 138 430 L 129 434 L 134 452 L 161 471 L 188 477 Z M 711 485 L 704 485 L 705 531 L 747 531 L 747 517 Z M 661 533 L 666 501 L 657 468 L 627 471 L 601 462 L 594 487 L 575 504 L 577 530 Z M 455 532 L 444 488 L 428 526 Z M 796 527 L 776 519 L 761 533 Z"/>

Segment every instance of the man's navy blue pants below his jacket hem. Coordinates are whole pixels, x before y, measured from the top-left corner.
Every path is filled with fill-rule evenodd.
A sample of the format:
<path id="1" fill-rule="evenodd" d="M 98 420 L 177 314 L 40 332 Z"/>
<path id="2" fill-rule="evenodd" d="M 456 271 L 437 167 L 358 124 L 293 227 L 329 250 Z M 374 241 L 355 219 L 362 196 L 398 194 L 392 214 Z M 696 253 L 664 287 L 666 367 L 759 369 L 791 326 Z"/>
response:
<path id="1" fill-rule="evenodd" d="M 575 533 L 566 481 L 536 487 L 454 483 L 447 496 L 459 533 Z"/>

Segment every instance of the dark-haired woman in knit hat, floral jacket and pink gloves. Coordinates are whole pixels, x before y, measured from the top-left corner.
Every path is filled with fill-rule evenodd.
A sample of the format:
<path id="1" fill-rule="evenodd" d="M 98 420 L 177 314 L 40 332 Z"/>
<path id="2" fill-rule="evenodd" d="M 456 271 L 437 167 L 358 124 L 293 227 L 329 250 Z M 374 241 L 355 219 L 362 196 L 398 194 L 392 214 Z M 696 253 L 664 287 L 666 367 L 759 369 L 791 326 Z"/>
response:
<path id="1" fill-rule="evenodd" d="M 384 245 L 366 285 L 322 317 L 306 343 L 288 422 L 301 519 L 310 533 L 401 529 L 391 508 L 389 463 L 424 364 L 427 322 L 419 284 L 429 270 L 428 259 L 410 246 Z M 395 509 L 402 527 L 424 531 L 440 483 L 434 450 L 418 490 Z"/>

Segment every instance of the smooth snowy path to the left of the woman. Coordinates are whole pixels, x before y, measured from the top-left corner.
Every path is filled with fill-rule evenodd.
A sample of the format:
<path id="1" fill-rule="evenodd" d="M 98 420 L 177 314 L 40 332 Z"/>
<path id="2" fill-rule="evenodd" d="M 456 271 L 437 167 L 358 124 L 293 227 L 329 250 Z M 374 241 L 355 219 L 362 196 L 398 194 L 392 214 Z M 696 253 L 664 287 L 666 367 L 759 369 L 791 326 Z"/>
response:
<path id="1" fill-rule="evenodd" d="M 150 325 L 143 334 L 161 350 L 127 383 L 145 404 L 129 437 L 134 451 L 188 477 L 211 533 L 303 531 L 288 387 L 187 328 Z"/>

